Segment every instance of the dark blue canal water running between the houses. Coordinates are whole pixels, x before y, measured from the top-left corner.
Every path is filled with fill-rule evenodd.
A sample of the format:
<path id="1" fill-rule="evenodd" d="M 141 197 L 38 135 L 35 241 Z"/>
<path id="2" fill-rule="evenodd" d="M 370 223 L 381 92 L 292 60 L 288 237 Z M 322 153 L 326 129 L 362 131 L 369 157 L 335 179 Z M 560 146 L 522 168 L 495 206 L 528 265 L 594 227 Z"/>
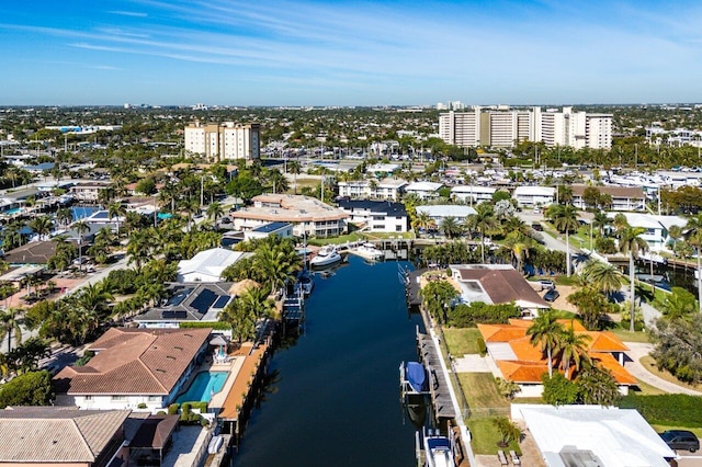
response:
<path id="1" fill-rule="evenodd" d="M 415 426 L 398 367 L 417 360 L 398 264 L 349 257 L 307 300 L 304 333 L 276 350 L 275 380 L 246 428 L 235 466 L 412 466 Z"/>

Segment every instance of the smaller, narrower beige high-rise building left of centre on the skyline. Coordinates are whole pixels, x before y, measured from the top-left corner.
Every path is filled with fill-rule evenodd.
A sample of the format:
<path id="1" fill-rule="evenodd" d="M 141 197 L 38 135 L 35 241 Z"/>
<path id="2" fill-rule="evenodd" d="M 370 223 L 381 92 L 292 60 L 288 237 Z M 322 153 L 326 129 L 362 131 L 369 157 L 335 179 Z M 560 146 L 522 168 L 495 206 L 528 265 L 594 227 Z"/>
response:
<path id="1" fill-rule="evenodd" d="M 253 160 L 261 156 L 261 126 L 258 123 L 201 124 L 185 127 L 185 151 L 208 160 Z"/>

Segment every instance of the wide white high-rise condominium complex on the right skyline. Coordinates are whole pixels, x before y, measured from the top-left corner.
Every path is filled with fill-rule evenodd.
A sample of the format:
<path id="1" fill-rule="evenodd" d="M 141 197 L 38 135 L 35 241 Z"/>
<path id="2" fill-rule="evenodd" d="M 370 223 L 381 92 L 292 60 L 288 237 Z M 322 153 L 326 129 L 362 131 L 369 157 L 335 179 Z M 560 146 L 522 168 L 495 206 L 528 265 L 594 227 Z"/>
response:
<path id="1" fill-rule="evenodd" d="M 542 111 L 473 107 L 439 116 L 439 136 L 461 147 L 511 147 L 516 141 L 543 141 L 546 146 L 609 149 L 612 115 L 573 112 L 573 107 Z"/>

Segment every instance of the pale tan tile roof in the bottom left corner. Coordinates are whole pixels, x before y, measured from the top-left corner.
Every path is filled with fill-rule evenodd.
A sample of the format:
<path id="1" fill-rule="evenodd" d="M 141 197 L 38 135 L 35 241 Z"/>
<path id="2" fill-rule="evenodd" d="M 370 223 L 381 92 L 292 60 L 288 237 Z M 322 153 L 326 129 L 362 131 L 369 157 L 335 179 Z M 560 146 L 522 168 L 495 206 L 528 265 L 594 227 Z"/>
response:
<path id="1" fill-rule="evenodd" d="M 37 410 L 38 409 L 38 410 Z M 131 410 L 0 410 L 0 463 L 92 463 Z"/>

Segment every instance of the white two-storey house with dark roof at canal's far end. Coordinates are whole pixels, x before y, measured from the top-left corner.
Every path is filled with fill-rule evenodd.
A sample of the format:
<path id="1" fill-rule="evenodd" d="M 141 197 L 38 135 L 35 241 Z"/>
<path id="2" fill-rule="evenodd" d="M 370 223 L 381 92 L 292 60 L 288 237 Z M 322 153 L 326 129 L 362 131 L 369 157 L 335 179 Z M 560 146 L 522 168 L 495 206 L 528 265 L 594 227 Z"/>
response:
<path id="1" fill-rule="evenodd" d="M 349 216 L 349 221 L 364 231 L 406 232 L 408 216 L 405 205 L 389 201 L 341 200 L 341 208 Z"/>

